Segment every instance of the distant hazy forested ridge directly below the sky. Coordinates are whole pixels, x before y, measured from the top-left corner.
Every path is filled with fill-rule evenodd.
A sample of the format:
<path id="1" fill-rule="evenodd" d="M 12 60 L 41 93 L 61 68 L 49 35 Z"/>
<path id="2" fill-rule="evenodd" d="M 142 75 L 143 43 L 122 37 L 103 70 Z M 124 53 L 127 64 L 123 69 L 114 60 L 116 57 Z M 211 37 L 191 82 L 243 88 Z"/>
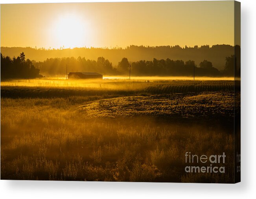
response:
<path id="1" fill-rule="evenodd" d="M 17 57 L 20 52 L 24 52 L 30 60 L 44 61 L 47 58 L 62 57 L 86 57 L 89 60 L 97 60 L 98 57 L 105 57 L 111 60 L 113 66 L 117 66 L 123 57 L 131 62 L 139 60 L 158 60 L 167 58 L 171 60 L 194 60 L 199 66 L 202 60 L 212 62 L 213 66 L 219 70 L 224 69 L 225 58 L 234 54 L 234 46 L 230 45 L 209 45 L 180 47 L 180 46 L 128 46 L 126 48 L 112 47 L 111 49 L 81 47 L 74 49 L 44 49 L 31 47 L 1 47 L 4 56 Z"/>

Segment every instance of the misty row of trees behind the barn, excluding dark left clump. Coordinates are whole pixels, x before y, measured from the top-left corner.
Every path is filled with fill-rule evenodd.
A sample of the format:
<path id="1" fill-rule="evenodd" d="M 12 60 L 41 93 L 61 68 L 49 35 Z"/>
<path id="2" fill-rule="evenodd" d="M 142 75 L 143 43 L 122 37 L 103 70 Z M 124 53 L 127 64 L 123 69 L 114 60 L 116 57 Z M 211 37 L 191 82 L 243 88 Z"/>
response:
<path id="1" fill-rule="evenodd" d="M 112 63 L 103 58 L 98 57 L 97 60 L 85 59 L 85 57 L 70 58 L 50 58 L 44 62 L 35 62 L 33 65 L 41 70 L 41 74 L 46 76 L 64 76 L 66 75 L 66 65 L 68 66 L 68 72 L 97 72 L 103 75 L 124 75 L 129 76 L 129 68 L 131 65 L 132 76 L 193 76 L 195 70 L 196 76 L 239 76 L 240 67 L 234 70 L 234 66 L 237 64 L 234 55 L 225 58 L 225 67 L 223 70 L 218 70 L 208 60 L 203 60 L 199 63 L 199 66 L 195 64 L 195 61 L 188 60 L 171 60 L 167 58 L 156 59 L 152 61 L 140 60 L 137 62 L 129 62 L 127 58 L 122 58 L 116 67 L 112 66 Z"/>

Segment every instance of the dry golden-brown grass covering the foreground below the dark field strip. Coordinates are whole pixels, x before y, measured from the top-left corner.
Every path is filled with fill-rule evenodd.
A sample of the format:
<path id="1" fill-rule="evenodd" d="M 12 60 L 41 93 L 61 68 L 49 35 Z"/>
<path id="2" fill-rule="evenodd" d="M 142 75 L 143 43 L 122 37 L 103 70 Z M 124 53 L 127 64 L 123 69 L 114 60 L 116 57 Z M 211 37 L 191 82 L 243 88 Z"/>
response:
<path id="1" fill-rule="evenodd" d="M 177 118 L 184 118 L 182 122 L 149 117 L 144 113 L 124 117 L 129 107 L 138 107 L 145 112 L 158 107 L 160 102 L 155 101 L 157 99 L 162 99 L 159 106 L 165 104 L 164 110 L 176 101 L 177 104 L 171 107 L 185 102 L 193 105 L 204 103 L 205 106 L 219 107 L 213 111 L 229 111 L 230 93 L 105 100 L 113 97 L 121 96 L 2 97 L 1 179 L 233 182 L 233 129 L 229 126 L 217 124 L 212 117 L 209 124 L 194 122 L 190 120 L 192 117 L 180 114 Z M 122 104 L 118 104 L 121 101 Z M 115 113 L 120 114 L 114 118 L 106 115 L 91 117 L 77 111 L 85 104 L 90 104 L 90 111 L 95 108 L 95 116 L 99 116 L 101 110 L 114 108 Z M 161 111 L 159 109 L 158 113 Z M 184 174 L 184 154 L 188 151 L 209 155 L 224 151 L 229 157 L 225 177 L 221 174 Z"/>

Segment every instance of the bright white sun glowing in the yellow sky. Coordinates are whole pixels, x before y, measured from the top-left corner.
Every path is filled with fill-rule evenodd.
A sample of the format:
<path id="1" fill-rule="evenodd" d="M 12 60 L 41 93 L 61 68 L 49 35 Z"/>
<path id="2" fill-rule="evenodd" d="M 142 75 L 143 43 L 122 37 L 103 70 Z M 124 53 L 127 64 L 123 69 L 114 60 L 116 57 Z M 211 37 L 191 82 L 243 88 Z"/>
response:
<path id="1" fill-rule="evenodd" d="M 87 23 L 78 15 L 70 14 L 57 18 L 53 26 L 56 46 L 74 48 L 85 46 Z"/>

